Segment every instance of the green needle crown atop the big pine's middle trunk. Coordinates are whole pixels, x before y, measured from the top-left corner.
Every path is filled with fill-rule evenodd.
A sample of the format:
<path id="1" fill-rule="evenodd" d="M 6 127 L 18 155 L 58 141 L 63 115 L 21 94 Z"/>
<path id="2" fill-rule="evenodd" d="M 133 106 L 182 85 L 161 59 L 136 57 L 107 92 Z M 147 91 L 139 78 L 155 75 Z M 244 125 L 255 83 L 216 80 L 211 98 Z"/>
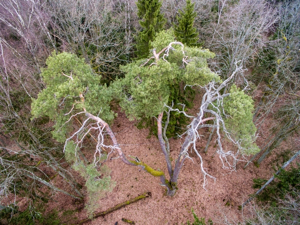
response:
<path id="1" fill-rule="evenodd" d="M 172 41 L 174 36 L 171 29 L 161 31 L 151 42 L 151 47 L 159 52 Z M 165 60 L 159 58 L 155 62 L 150 59 L 145 64 L 147 59 L 141 59 L 121 67 L 125 77 L 114 84 L 118 86 L 116 89 L 122 89 L 120 105 L 129 118 L 151 117 L 164 111 L 164 104 L 172 100 L 173 85 L 181 82 L 183 87 L 185 84 L 205 85 L 211 80 L 219 80 L 217 74 L 210 71 L 206 62 L 207 58 L 214 56 L 214 53 L 207 49 L 184 47 L 184 53 L 186 52 L 190 62 L 182 66 L 184 55 L 181 45 L 174 44 L 172 47 L 174 50 L 169 51 L 168 56 L 164 57 Z"/>

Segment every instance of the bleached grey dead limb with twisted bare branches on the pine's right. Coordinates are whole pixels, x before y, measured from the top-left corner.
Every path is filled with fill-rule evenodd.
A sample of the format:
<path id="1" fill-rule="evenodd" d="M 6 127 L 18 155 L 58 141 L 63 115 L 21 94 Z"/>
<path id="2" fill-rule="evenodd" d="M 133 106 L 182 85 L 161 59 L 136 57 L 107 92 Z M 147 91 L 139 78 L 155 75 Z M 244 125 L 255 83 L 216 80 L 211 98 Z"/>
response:
<path id="1" fill-rule="evenodd" d="M 232 141 L 235 145 L 237 145 L 238 149 L 240 149 L 239 142 L 234 141 L 233 138 L 231 138 L 230 133 L 226 130 L 224 121 L 222 119 L 222 114 L 224 114 L 224 111 L 221 111 L 219 109 L 219 106 L 222 105 L 223 98 L 225 96 L 228 96 L 227 93 L 221 94 L 220 93 L 221 89 L 223 87 L 225 87 L 227 85 L 227 83 L 233 79 L 236 72 L 242 70 L 241 66 L 238 66 L 237 63 L 238 63 L 238 61 L 235 62 L 236 68 L 232 72 L 232 74 L 227 79 L 225 79 L 221 84 L 217 85 L 216 82 L 212 81 L 212 82 L 208 83 L 206 86 L 202 87 L 205 90 L 205 93 L 202 97 L 202 102 L 201 102 L 201 106 L 199 108 L 199 112 L 197 113 L 196 117 L 189 116 L 192 118 L 192 121 L 188 125 L 188 129 L 186 130 L 186 132 L 184 132 L 182 134 L 182 135 L 185 135 L 185 134 L 187 134 L 187 135 L 186 135 L 184 143 L 181 147 L 180 154 L 177 159 L 175 167 L 179 168 L 180 164 L 183 163 L 184 159 L 190 158 L 188 155 L 188 149 L 190 146 L 192 146 L 192 149 L 194 150 L 194 152 L 197 154 L 198 158 L 200 159 L 200 167 L 201 167 L 201 172 L 203 174 L 203 188 L 204 189 L 205 189 L 205 185 L 207 184 L 207 178 L 206 178 L 207 176 L 215 180 L 215 177 L 211 176 L 210 174 L 208 174 L 206 172 L 205 168 L 203 167 L 202 157 L 201 157 L 200 153 L 198 152 L 198 150 L 196 149 L 196 141 L 197 141 L 197 139 L 200 139 L 200 137 L 201 137 L 201 135 L 198 133 L 198 130 L 200 128 L 204 127 L 203 125 L 204 125 L 205 121 L 210 120 L 210 119 L 213 119 L 215 121 L 214 125 L 210 125 L 210 126 L 216 128 L 217 143 L 218 143 L 217 153 L 219 154 L 219 158 L 222 162 L 223 168 L 234 170 L 235 162 L 237 160 L 239 160 L 236 157 L 238 151 L 237 151 L 237 153 L 234 153 L 230 150 L 225 151 L 225 149 L 223 149 L 223 147 L 222 147 L 220 129 L 222 129 L 222 131 L 225 133 L 226 137 L 230 141 Z M 216 102 L 216 105 L 212 104 L 212 102 Z M 208 109 L 208 105 L 211 105 L 214 108 L 214 110 Z M 175 110 L 175 111 L 184 113 L 183 110 L 180 111 L 179 109 L 172 109 L 169 106 L 167 106 L 167 107 L 170 110 Z M 212 116 L 205 118 L 204 117 L 205 113 L 212 114 Z M 186 113 L 184 113 L 184 114 L 186 115 Z M 233 159 L 233 163 L 232 162 L 230 163 L 230 161 L 228 161 L 229 157 L 231 157 Z M 177 173 L 177 170 L 178 169 L 174 169 L 174 173 Z"/>

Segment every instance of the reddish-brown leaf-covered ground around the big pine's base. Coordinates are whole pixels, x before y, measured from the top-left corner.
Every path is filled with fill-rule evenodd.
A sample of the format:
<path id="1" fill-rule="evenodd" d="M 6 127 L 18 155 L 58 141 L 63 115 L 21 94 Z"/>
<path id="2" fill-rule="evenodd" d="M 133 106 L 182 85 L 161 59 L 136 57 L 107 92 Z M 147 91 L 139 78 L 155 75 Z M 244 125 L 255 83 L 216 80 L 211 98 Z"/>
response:
<path id="1" fill-rule="evenodd" d="M 129 121 L 124 112 L 118 111 L 118 116 L 111 126 L 124 154 L 137 156 L 149 166 L 155 169 L 159 168 L 167 174 L 166 163 L 158 139 L 154 135 L 148 138 L 149 129 L 138 129 L 135 123 L 136 121 Z M 265 144 L 264 139 L 268 135 L 269 128 L 262 127 L 262 130 L 264 132 L 261 132 L 256 141 L 259 147 Z M 207 153 L 203 152 L 209 132 L 203 130 L 200 134 L 203 136 L 198 141 L 197 148 L 203 158 L 203 167 L 216 178 L 215 181 L 208 178 L 206 189 L 203 188 L 200 160 L 195 153 L 189 154 L 192 160 L 185 160 L 178 178 L 178 190 L 173 197 L 164 195 L 165 188 L 160 185 L 159 177 L 150 175 L 140 167 L 124 164 L 119 158 L 115 158 L 117 154 L 113 153 L 109 158 L 115 159 L 110 159 L 105 164 L 111 169 L 110 176 L 116 185 L 111 192 L 107 192 L 103 198 L 99 199 L 95 213 L 105 211 L 144 192 L 151 192 L 151 197 L 126 205 L 84 224 L 113 225 L 116 221 L 118 225 L 128 224 L 121 218 L 142 225 L 186 224 L 187 220 L 193 221 L 191 210 L 194 210 L 199 218 L 204 217 L 206 221 L 210 218 L 213 224 L 237 224 L 245 217 L 250 216 L 251 210 L 248 209 L 252 207 L 251 204 L 243 210 L 240 210 L 238 206 L 248 198 L 249 194 L 255 192 L 252 188 L 253 178 L 268 179 L 283 164 L 283 159 L 281 158 L 281 160 L 280 157 L 278 159 L 278 154 L 282 153 L 284 149 L 277 149 L 270 157 L 262 161 L 259 167 L 251 163 L 246 169 L 243 169 L 245 162 L 239 161 L 236 170 L 229 171 L 222 168 L 221 160 L 215 153 L 217 147 L 213 146 L 214 138 L 211 140 Z M 173 162 L 177 158 L 182 142 L 183 139 L 171 138 L 169 140 L 170 156 Z M 232 148 L 232 145 L 226 141 L 223 144 L 225 149 Z M 293 144 L 295 143 L 290 140 L 285 141 L 285 149 L 292 149 Z M 89 152 L 89 156 L 92 157 L 92 155 L 93 152 Z M 77 180 L 83 181 L 79 175 L 77 178 Z M 58 186 L 64 185 L 59 176 L 56 176 L 54 181 Z M 25 204 L 24 201 L 23 204 Z M 60 217 L 65 217 L 63 220 L 71 223 L 76 223 L 88 216 L 82 203 L 61 193 L 56 192 L 52 196 L 52 200 L 49 200 L 48 206 L 47 211 L 56 209 L 59 211 Z M 68 216 L 62 212 L 69 209 L 73 211 L 71 217 L 67 218 Z"/>

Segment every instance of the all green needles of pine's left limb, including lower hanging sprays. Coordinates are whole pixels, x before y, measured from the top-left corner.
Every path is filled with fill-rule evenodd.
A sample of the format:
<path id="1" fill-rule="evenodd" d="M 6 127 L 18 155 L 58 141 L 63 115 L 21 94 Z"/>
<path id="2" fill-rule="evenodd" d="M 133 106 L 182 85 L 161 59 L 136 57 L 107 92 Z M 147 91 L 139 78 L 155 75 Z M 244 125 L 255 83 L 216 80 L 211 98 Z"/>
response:
<path id="1" fill-rule="evenodd" d="M 86 207 L 88 213 L 92 213 L 97 208 L 98 199 L 112 190 L 114 182 L 110 179 L 108 168 L 101 166 L 98 171 L 93 164 L 84 164 L 76 155 L 77 145 L 67 138 L 73 131 L 73 122 L 82 121 L 85 112 L 98 114 L 107 121 L 113 119 L 114 113 L 109 106 L 111 90 L 101 85 L 100 77 L 74 54 L 53 52 L 46 64 L 41 73 L 46 88 L 38 94 L 37 99 L 32 99 L 31 113 L 33 117 L 48 116 L 55 122 L 53 137 L 60 142 L 68 140 L 65 156 L 73 163 L 72 167 L 86 178 L 89 197 Z M 79 139 L 84 135 L 85 132 L 80 134 Z"/>

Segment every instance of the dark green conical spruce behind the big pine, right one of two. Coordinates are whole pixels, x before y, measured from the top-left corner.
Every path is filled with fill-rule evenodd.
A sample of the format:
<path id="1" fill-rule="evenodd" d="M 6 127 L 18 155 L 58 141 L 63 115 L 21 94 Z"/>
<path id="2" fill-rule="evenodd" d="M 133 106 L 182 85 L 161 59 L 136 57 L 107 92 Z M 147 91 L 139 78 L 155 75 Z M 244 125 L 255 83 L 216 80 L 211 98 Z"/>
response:
<path id="1" fill-rule="evenodd" d="M 188 46 L 196 45 L 198 40 L 198 32 L 194 25 L 194 19 L 197 13 L 194 11 L 194 3 L 190 0 L 186 0 L 186 6 L 183 11 L 179 11 L 179 15 L 176 16 L 178 25 L 174 28 L 174 34 L 176 39 Z"/>

